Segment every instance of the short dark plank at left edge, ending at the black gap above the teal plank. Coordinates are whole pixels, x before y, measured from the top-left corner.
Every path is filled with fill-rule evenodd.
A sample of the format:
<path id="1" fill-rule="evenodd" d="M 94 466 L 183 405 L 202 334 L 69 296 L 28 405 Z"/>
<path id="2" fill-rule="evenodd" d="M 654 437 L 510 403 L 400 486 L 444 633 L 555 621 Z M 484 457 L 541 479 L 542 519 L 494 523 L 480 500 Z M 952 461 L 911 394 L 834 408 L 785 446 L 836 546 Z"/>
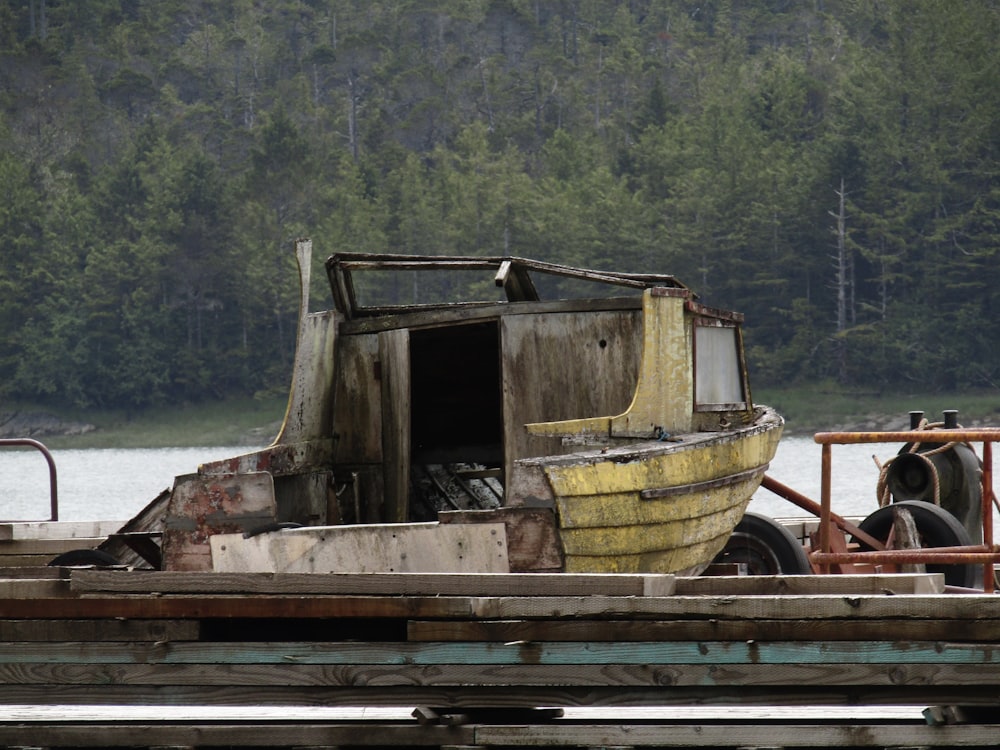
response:
<path id="1" fill-rule="evenodd" d="M 0 620 L 5 641 L 194 641 L 197 620 Z"/>

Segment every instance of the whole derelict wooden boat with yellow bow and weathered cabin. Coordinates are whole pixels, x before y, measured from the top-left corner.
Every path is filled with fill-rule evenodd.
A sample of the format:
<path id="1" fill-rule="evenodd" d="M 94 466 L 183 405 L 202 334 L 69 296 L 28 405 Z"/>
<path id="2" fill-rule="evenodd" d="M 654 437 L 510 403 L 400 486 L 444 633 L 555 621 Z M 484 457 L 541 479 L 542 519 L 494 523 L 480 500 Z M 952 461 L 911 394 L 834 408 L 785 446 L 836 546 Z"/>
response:
<path id="1" fill-rule="evenodd" d="M 178 477 L 114 551 L 152 530 L 173 570 L 696 574 L 722 549 L 783 426 L 742 316 L 668 275 L 346 253 L 310 313 L 297 251 L 280 434 Z"/>

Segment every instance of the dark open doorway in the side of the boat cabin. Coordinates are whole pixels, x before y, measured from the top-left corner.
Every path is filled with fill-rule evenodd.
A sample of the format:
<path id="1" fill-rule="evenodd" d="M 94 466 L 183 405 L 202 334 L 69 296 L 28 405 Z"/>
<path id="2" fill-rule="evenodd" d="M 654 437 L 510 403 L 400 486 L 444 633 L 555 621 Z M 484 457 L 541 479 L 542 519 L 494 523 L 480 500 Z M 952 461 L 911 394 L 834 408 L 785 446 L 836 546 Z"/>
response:
<path id="1" fill-rule="evenodd" d="M 496 321 L 410 331 L 410 518 L 501 504 Z"/>

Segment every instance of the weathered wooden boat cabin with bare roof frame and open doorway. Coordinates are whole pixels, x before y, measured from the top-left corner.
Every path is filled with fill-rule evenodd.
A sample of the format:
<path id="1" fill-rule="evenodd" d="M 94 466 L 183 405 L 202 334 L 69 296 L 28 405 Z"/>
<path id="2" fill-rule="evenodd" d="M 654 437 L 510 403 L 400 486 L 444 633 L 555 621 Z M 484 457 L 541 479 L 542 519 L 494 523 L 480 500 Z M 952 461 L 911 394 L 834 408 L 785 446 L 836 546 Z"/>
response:
<path id="1" fill-rule="evenodd" d="M 672 276 L 519 258 L 336 255 L 327 269 L 333 314 L 341 318 L 333 472 L 357 483 L 351 492 L 360 515 L 352 520 L 435 517 L 440 508 L 421 505 L 422 483 L 496 479 L 478 483 L 497 492 L 491 500 L 490 490 L 480 491 L 480 505 L 500 505 L 518 459 L 614 443 L 616 435 L 597 429 L 525 426 L 628 412 L 642 372 L 644 295 L 658 295 L 647 306 L 697 311 L 695 326 L 674 335 L 694 335 L 701 359 L 691 367 L 692 342 L 658 343 L 656 364 L 669 372 L 656 375 L 670 381 L 673 403 L 661 404 L 657 423 L 631 425 L 617 437 L 667 439 L 748 409 L 739 316 L 697 306 Z M 365 275 L 382 278 L 376 287 Z M 376 289 L 406 290 L 410 298 L 366 300 Z M 475 301 L 454 301 L 477 294 Z M 710 400 L 687 403 L 688 371 L 699 379 L 694 392 Z M 438 467 L 448 467 L 447 480 L 437 479 Z M 342 518 L 351 506 L 342 506 Z"/>

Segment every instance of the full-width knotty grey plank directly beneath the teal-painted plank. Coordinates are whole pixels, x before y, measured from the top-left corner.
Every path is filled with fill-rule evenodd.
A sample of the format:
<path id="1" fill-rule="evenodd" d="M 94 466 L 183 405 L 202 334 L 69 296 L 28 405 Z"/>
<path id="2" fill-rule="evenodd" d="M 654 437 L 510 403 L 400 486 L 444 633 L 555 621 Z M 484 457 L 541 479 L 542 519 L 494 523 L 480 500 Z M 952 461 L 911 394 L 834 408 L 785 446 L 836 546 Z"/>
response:
<path id="1" fill-rule="evenodd" d="M 287 660 L 286 660 L 287 661 Z M 0 683 L 23 685 L 609 687 L 659 689 L 748 687 L 789 690 L 820 684 L 827 691 L 918 685 L 924 688 L 1000 689 L 1000 664 L 259 664 L 259 663 L 0 663 Z M 426 701 L 420 700 L 420 703 Z M 935 703 L 953 702 L 935 699 Z"/>

